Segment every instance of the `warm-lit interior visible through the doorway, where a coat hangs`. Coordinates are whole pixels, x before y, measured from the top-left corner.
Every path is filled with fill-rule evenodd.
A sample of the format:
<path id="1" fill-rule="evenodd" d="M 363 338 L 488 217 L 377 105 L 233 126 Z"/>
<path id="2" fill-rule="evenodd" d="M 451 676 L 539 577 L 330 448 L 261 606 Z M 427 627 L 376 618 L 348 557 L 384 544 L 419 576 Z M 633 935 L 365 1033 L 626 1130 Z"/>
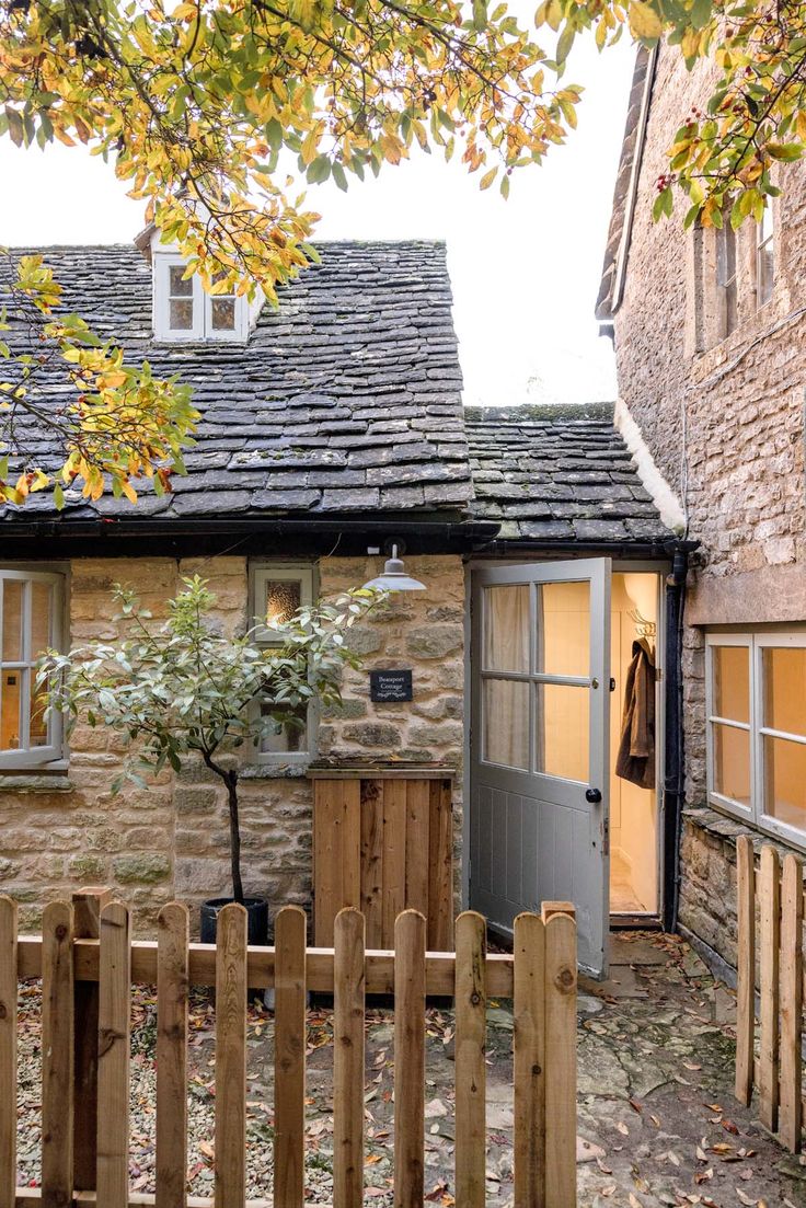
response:
<path id="1" fill-rule="evenodd" d="M 610 674 L 615 690 L 610 708 L 610 914 L 614 922 L 632 916 L 656 916 L 660 912 L 659 866 L 659 736 L 661 696 L 657 691 L 645 699 L 642 686 L 631 687 L 630 667 L 640 664 L 638 675 L 659 664 L 659 576 L 649 571 L 614 571 L 610 594 Z M 642 654 L 643 652 L 643 654 Z M 644 680 L 644 687 L 646 680 Z M 642 714 L 634 721 L 636 749 L 649 739 L 648 759 L 628 761 L 633 779 L 619 774 L 625 716 L 632 704 Z M 644 710 L 649 716 L 644 718 Z M 642 730 L 643 726 L 643 730 Z M 625 739 L 625 747 L 628 739 Z"/>

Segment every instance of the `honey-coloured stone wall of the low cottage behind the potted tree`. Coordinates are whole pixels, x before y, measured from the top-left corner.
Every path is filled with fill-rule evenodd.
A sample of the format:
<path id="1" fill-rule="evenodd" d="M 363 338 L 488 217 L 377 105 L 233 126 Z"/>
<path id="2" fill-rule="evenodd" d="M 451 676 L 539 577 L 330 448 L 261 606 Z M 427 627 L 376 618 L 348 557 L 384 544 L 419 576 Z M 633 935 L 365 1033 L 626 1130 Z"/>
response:
<path id="1" fill-rule="evenodd" d="M 399 597 L 355 634 L 365 668 L 349 670 L 340 709 L 321 718 L 319 753 L 437 760 L 457 768 L 463 750 L 464 575 L 458 557 L 407 559 L 428 591 Z M 320 565 L 323 594 L 332 596 L 378 574 L 381 563 L 329 558 Z M 245 558 L 205 561 L 81 559 L 70 574 L 70 640 L 115 640 L 111 591 L 134 586 L 161 621 L 184 576 L 198 571 L 216 594 L 228 631 L 247 625 Z M 370 667 L 412 667 L 414 702 L 369 702 Z M 11 893 L 23 924 L 34 927 L 42 905 L 82 884 L 109 884 L 149 929 L 160 906 L 176 896 L 191 905 L 230 892 L 225 791 L 201 762 L 161 774 L 147 789 L 128 785 L 112 797 L 123 760 L 122 739 L 81 724 L 69 768 L 57 776 L 0 777 L 0 890 Z M 309 905 L 312 789 L 305 767 L 248 765 L 240 782 L 243 869 L 247 893 L 273 905 Z M 457 795 L 458 796 L 458 795 Z M 457 836 L 460 827 L 457 800 Z"/>

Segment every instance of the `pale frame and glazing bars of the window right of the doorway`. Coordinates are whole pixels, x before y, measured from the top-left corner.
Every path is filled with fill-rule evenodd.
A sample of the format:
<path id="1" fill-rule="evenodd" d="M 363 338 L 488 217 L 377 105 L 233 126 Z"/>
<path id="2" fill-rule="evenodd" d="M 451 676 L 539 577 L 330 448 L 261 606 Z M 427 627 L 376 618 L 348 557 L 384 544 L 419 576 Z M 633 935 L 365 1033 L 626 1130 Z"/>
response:
<path id="1" fill-rule="evenodd" d="M 743 646 L 748 651 L 749 672 L 749 725 L 736 722 L 730 719 L 718 718 L 713 712 L 714 696 L 714 646 Z M 781 730 L 773 730 L 764 725 L 764 651 L 773 647 L 806 647 L 806 631 L 756 631 L 744 633 L 717 633 L 706 634 L 706 771 L 708 782 L 708 801 L 724 813 L 748 823 L 764 834 L 779 838 L 791 847 L 806 852 L 806 827 L 800 830 L 782 823 L 778 818 L 772 818 L 765 813 L 764 800 L 764 738 L 784 738 L 790 742 L 806 745 L 806 718 L 804 719 L 804 734 L 790 734 Z M 714 792 L 714 741 L 713 725 L 730 725 L 738 730 L 749 731 L 750 742 L 750 805 L 743 806 L 738 801 L 732 801 L 719 792 Z"/>

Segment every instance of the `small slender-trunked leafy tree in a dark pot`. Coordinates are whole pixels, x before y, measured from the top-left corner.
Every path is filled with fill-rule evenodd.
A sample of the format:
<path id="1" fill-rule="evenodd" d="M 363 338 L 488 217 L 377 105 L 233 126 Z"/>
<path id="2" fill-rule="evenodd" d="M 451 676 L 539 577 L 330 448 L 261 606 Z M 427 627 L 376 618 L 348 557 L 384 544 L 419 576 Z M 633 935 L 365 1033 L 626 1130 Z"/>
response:
<path id="1" fill-rule="evenodd" d="M 298 609 L 282 626 L 266 621 L 242 637 L 228 637 L 215 625 L 215 596 L 196 575 L 168 602 L 168 620 L 152 625 L 152 614 L 135 593 L 117 585 L 121 610 L 116 620 L 128 633 L 116 644 L 92 643 L 66 655 L 48 651 L 37 684 L 48 708 L 62 713 L 68 734 L 80 718 L 91 726 L 123 733 L 132 751 L 112 792 L 127 782 L 145 785 L 143 773 L 166 766 L 175 772 L 189 757 L 201 757 L 226 789 L 230 823 L 232 896 L 214 898 L 202 907 L 202 939 L 215 939 L 218 912 L 227 901 L 249 913 L 249 942 L 266 943 L 268 904 L 244 895 L 238 814 L 238 749 L 256 745 L 271 726 L 296 720 L 313 697 L 340 699 L 342 669 L 358 658 L 346 641 L 349 628 L 378 599 L 360 588 L 332 604 Z M 283 644 L 255 644 L 257 629 L 273 627 Z"/>

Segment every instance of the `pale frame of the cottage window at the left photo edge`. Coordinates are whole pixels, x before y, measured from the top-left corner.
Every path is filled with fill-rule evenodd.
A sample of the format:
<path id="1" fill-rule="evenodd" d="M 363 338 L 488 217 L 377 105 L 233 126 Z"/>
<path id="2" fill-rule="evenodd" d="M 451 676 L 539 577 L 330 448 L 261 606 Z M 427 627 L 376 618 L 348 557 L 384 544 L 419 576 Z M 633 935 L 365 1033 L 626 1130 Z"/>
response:
<path id="1" fill-rule="evenodd" d="M 64 646 L 64 600 L 65 600 L 65 576 L 59 571 L 45 571 L 45 570 L 21 570 L 21 569 L 6 569 L 0 568 L 0 583 L 5 582 L 22 582 L 22 583 L 48 583 L 52 587 L 52 610 L 51 610 L 51 632 L 48 635 L 48 644 L 56 650 L 60 650 Z M 23 609 L 23 626 L 22 626 L 22 657 L 21 658 L 2 658 L 2 651 L 0 649 L 0 674 L 6 670 L 19 672 L 22 685 L 21 695 L 24 696 L 25 702 L 30 701 L 30 695 L 34 687 L 34 651 L 30 647 L 30 608 L 28 606 L 28 600 L 30 596 L 30 587 L 24 588 L 24 609 Z M 2 594 L 0 593 L 0 639 L 2 634 Z M 54 763 L 64 757 L 64 726 L 62 715 L 59 713 L 52 713 L 48 720 L 51 727 L 51 742 L 46 747 L 28 747 L 28 726 L 30 721 L 30 707 L 22 709 L 22 733 L 19 736 L 19 748 L 17 750 L 0 750 L 0 773 L 7 771 L 27 771 L 29 768 L 40 768 L 47 763 Z"/>

